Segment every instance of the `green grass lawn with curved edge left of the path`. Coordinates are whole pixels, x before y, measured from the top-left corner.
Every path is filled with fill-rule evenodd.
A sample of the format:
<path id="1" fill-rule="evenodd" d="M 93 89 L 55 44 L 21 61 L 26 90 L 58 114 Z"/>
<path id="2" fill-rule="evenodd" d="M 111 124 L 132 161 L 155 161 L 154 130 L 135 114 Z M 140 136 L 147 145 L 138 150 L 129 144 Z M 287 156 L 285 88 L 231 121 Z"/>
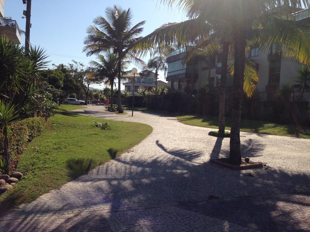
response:
<path id="1" fill-rule="evenodd" d="M 40 195 L 87 173 L 138 144 L 152 132 L 152 127 L 134 122 L 111 121 L 68 112 L 83 108 L 61 105 L 50 117 L 47 129 L 32 140 L 20 156 L 17 171 L 24 177 L 10 191 L 0 196 L 0 212 Z M 102 130 L 92 120 L 110 127 Z"/>

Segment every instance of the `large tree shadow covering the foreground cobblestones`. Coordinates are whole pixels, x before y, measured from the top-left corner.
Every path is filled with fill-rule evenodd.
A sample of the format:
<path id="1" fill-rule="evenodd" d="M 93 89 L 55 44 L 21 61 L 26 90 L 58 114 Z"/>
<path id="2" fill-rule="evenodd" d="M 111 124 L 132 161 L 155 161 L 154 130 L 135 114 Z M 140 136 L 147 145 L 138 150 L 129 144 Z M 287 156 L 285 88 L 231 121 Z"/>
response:
<path id="1" fill-rule="evenodd" d="M 220 148 L 221 142 L 217 140 L 214 147 Z M 255 144 L 255 141 L 248 143 Z M 59 210 L 78 211 L 78 207 L 98 211 L 76 213 L 70 217 L 71 221 L 61 222 L 54 231 L 71 224 L 71 231 L 87 229 L 87 225 L 99 230 L 101 222 L 103 231 L 133 230 L 140 223 L 148 226 L 144 231 L 172 231 L 178 230 L 177 226 L 179 230 L 183 227 L 195 231 L 197 225 L 209 231 L 207 224 L 217 226 L 219 231 L 236 229 L 236 224 L 261 231 L 308 231 L 308 173 L 281 167 L 230 170 L 208 162 L 210 154 L 197 154 L 190 149 L 174 151 L 167 148 L 169 143 L 157 141 L 156 144 L 161 148 L 160 156 L 117 157 L 76 179 L 76 193 L 55 192 L 55 202 L 64 202 L 58 210 L 54 206 L 57 217 Z M 255 149 L 249 148 L 247 156 Z M 198 158 L 204 158 L 205 162 L 193 162 Z M 46 201 L 32 204 L 35 212 L 40 207 L 47 210 L 53 207 L 53 203 Z M 16 213 L 29 215 L 23 208 Z M 93 221 L 92 217 L 98 220 Z M 33 230 L 38 224 L 34 219 L 23 221 L 14 229 Z M 42 228 L 55 226 L 55 220 L 44 223 Z M 3 223 L 0 230 L 10 228 L 9 220 Z"/>

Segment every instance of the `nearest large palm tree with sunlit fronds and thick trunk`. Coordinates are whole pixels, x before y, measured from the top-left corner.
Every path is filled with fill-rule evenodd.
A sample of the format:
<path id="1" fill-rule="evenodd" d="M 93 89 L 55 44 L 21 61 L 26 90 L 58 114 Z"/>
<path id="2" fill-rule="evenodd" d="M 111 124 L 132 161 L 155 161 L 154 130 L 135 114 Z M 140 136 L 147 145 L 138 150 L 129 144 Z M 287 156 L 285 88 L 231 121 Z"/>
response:
<path id="1" fill-rule="evenodd" d="M 281 45 L 281 53 L 301 63 L 310 63 L 310 27 L 295 21 L 297 8 L 309 7 L 306 0 L 163 0 L 187 11 L 189 20 L 182 24 L 164 25 L 141 40 L 139 49 L 156 43 L 167 45 L 195 45 L 213 33 L 220 39 L 228 28 L 234 46 L 234 81 L 232 123 L 230 131 L 230 160 L 241 163 L 240 119 L 245 71 L 247 41 L 267 51 L 272 44 Z M 204 28 L 204 30 L 202 30 Z M 197 36 L 198 35 L 198 36 Z M 142 45 L 142 41 L 146 41 Z M 152 41 L 154 41 L 152 43 Z"/>

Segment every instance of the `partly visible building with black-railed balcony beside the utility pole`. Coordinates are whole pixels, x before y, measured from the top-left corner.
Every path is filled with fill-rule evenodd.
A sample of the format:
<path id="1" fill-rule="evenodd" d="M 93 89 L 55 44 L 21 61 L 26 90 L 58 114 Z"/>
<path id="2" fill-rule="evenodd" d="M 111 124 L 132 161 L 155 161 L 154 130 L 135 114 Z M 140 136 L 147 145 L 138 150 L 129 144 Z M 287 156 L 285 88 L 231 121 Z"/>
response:
<path id="1" fill-rule="evenodd" d="M 4 18 L 4 0 L 0 0 L 0 35 L 20 44 L 20 28 L 15 20 Z"/>

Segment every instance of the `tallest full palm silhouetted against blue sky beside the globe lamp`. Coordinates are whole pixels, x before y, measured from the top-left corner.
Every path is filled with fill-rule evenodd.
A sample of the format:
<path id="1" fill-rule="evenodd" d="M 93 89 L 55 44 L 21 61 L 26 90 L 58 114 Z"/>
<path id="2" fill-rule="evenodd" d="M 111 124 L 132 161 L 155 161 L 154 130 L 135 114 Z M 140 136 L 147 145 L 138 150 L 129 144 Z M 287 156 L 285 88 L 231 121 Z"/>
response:
<path id="1" fill-rule="evenodd" d="M 112 49 L 118 57 L 118 89 L 121 89 L 122 60 L 126 57 L 138 65 L 144 65 L 144 62 L 130 51 L 132 45 L 141 39 L 138 36 L 143 31 L 141 26 L 145 24 L 145 21 L 131 27 L 133 12 L 130 8 L 123 10 L 120 6 L 106 8 L 105 14 L 106 18 L 96 17 L 93 20 L 95 25 L 87 28 L 88 36 L 84 41 L 86 46 L 83 51 L 87 52 L 89 56 Z M 120 91 L 118 93 L 118 112 L 123 113 Z"/>

